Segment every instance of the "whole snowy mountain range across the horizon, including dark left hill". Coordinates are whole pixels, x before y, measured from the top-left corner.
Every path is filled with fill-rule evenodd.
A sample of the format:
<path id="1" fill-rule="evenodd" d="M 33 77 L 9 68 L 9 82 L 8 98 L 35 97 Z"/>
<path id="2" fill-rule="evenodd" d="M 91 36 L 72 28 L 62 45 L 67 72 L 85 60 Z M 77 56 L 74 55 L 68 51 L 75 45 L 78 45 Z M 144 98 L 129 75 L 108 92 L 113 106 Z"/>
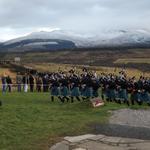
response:
<path id="1" fill-rule="evenodd" d="M 0 44 L 0 50 L 59 50 L 88 47 L 150 47 L 148 30 L 103 31 L 94 36 L 70 31 L 33 32 Z"/>

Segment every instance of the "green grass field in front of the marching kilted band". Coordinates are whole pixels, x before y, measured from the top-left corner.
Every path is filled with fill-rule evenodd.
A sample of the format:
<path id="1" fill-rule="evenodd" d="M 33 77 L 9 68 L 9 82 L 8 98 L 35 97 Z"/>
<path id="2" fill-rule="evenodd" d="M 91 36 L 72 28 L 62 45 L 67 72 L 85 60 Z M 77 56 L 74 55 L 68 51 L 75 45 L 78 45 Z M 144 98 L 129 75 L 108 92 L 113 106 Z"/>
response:
<path id="1" fill-rule="evenodd" d="M 102 108 L 92 108 L 90 102 L 52 103 L 48 93 L 14 92 L 0 94 L 0 99 L 0 150 L 46 150 L 63 136 L 92 133 L 91 125 L 107 123 L 110 110 L 127 107 L 114 103 Z"/>

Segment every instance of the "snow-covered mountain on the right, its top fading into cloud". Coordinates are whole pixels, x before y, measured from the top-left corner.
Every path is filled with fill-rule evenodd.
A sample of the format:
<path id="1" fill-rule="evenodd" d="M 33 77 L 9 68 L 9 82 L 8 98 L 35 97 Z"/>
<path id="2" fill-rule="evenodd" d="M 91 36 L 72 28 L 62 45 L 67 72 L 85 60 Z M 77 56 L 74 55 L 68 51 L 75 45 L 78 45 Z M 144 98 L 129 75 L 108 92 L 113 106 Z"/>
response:
<path id="1" fill-rule="evenodd" d="M 96 47 L 150 47 L 150 32 L 146 30 L 116 30 L 103 32 L 93 40 Z"/>

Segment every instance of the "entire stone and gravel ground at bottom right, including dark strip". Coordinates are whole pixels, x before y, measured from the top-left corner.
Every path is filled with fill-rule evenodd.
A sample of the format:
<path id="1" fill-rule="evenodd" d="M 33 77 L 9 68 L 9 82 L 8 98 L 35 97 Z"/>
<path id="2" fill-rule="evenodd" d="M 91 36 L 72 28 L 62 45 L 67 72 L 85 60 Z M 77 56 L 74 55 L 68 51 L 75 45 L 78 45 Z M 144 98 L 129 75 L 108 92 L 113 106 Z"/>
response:
<path id="1" fill-rule="evenodd" d="M 149 150 L 150 111 L 112 112 L 108 125 L 96 125 L 97 134 L 64 137 L 50 150 Z M 102 134 L 104 133 L 104 134 Z"/>

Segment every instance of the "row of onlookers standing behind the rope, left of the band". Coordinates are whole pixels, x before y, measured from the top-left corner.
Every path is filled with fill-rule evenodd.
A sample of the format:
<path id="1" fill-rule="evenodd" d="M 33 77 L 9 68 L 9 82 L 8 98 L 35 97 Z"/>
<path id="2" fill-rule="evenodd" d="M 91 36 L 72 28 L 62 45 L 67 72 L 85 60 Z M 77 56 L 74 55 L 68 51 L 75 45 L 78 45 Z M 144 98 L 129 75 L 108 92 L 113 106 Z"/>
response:
<path id="1" fill-rule="evenodd" d="M 31 73 L 17 73 L 16 79 L 12 79 L 9 75 L 3 75 L 1 77 L 2 92 L 12 92 L 14 88 L 18 92 L 48 92 L 49 90 L 49 78 L 48 74 L 31 74 Z"/>

